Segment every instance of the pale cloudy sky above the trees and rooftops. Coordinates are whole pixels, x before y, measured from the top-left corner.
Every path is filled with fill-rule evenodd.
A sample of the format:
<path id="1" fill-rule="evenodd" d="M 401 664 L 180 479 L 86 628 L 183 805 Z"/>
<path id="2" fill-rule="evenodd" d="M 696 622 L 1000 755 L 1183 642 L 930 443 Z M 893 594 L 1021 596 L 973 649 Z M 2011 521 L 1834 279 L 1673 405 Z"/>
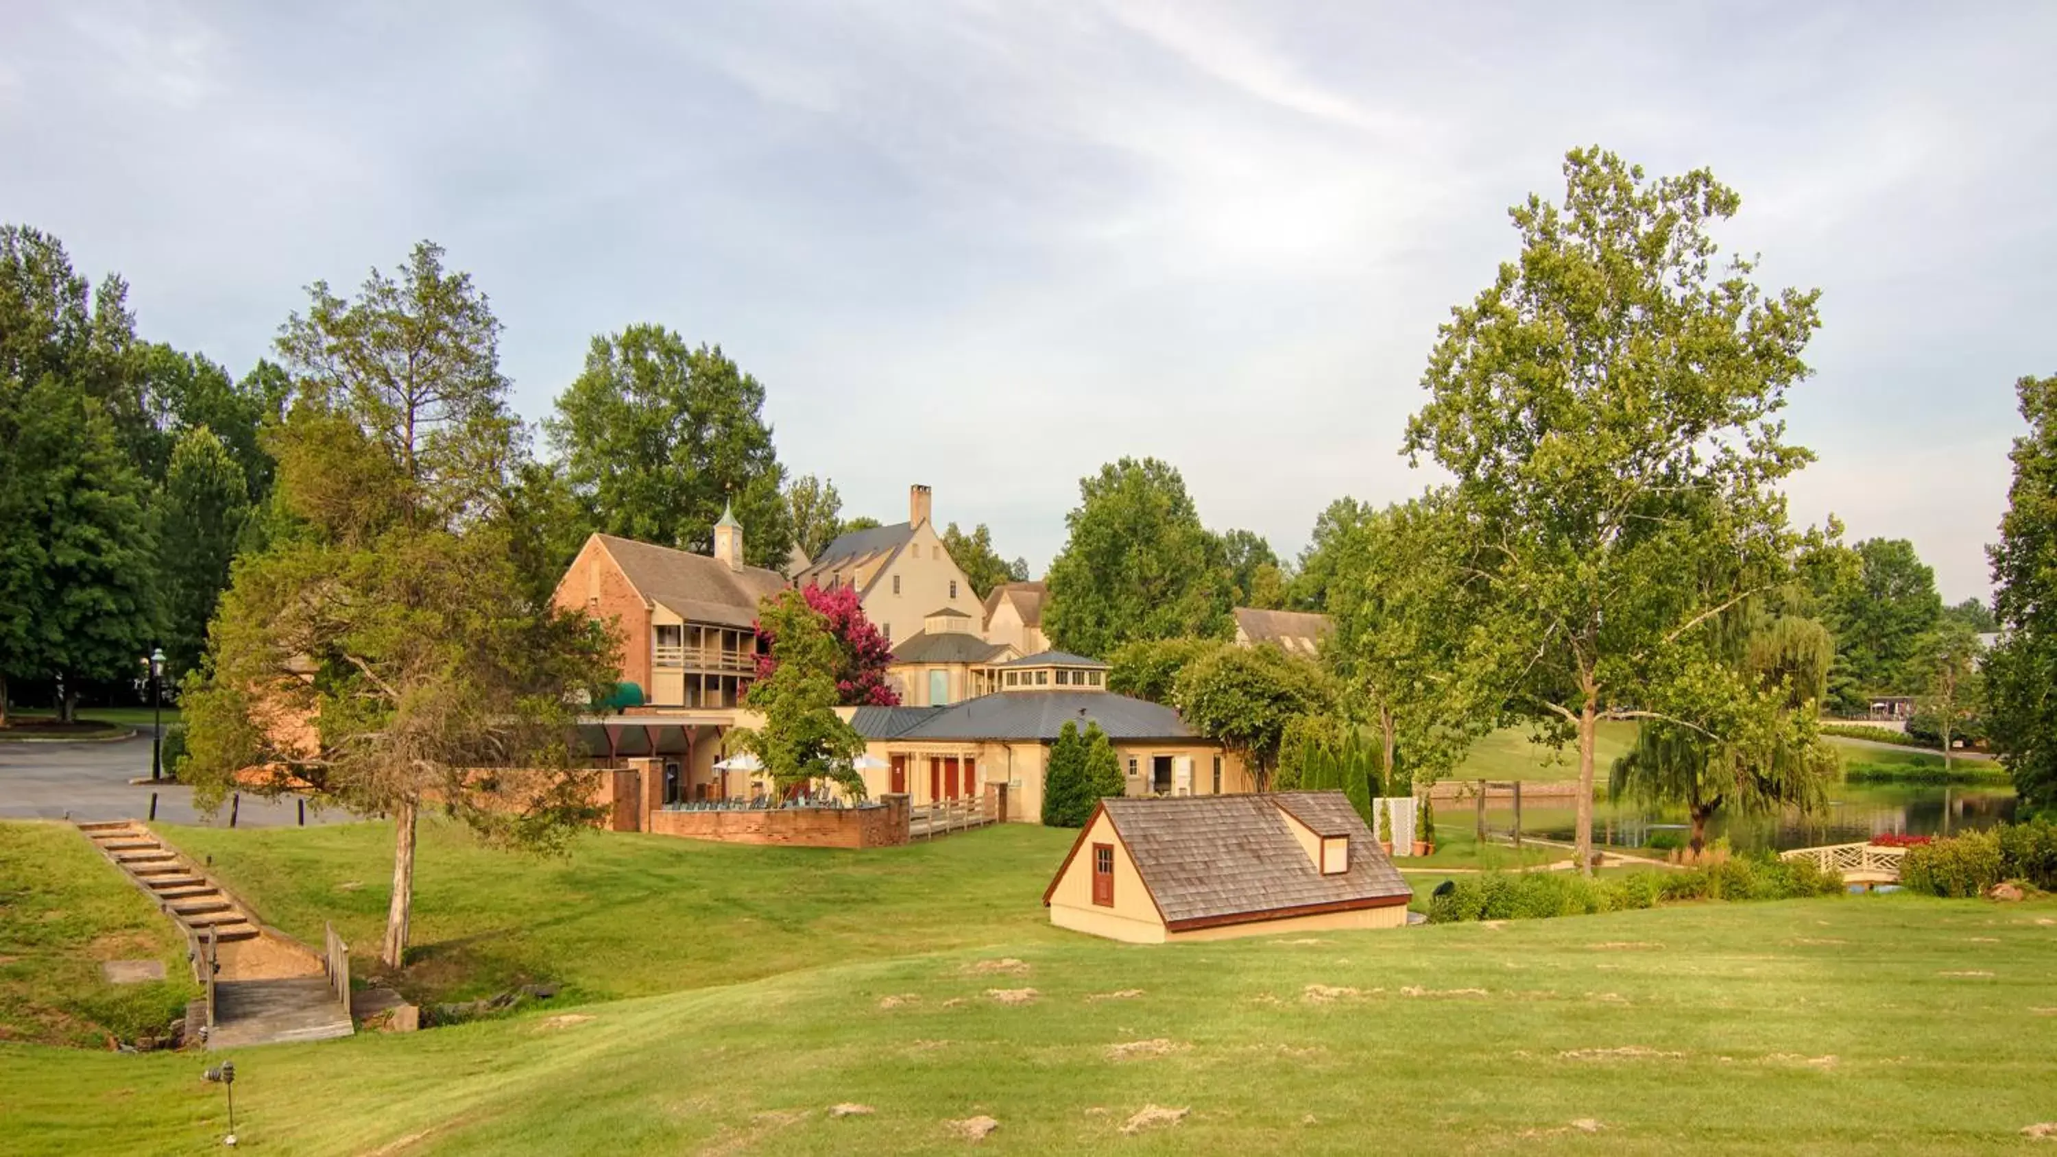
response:
<path id="1" fill-rule="evenodd" d="M 1037 571 L 1158 456 L 1286 557 L 1399 446 L 1450 306 L 1563 152 L 1709 166 L 1820 288 L 1800 524 L 1989 590 L 2014 380 L 2057 372 L 2057 4 L 272 4 L 10 0 L 0 220 L 232 372 L 434 238 L 529 419 L 662 323 L 767 388 L 845 516 Z"/>

